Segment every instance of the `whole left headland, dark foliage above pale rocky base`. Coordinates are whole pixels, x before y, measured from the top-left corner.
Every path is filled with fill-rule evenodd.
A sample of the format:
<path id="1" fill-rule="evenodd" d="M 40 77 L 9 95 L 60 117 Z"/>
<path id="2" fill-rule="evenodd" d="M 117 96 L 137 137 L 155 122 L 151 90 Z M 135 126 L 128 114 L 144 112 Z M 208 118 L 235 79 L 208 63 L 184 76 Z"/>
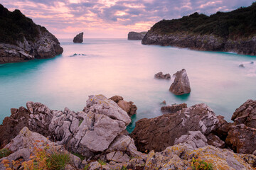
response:
<path id="1" fill-rule="evenodd" d="M 60 42 L 46 28 L 16 9 L 0 4 L 0 64 L 45 59 L 63 53 Z"/>

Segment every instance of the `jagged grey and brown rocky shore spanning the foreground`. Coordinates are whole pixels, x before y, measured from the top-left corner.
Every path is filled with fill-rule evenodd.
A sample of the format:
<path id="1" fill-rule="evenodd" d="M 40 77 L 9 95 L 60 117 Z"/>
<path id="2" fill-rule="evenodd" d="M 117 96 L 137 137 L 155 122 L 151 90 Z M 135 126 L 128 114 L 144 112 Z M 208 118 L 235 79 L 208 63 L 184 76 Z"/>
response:
<path id="1" fill-rule="evenodd" d="M 137 121 L 129 135 L 129 115 L 137 107 L 121 96 L 89 96 L 80 112 L 54 111 L 29 101 L 26 108 L 12 108 L 0 125 L 1 148 L 10 152 L 0 157 L 0 169 L 21 158 L 22 169 L 38 146 L 68 154 L 65 169 L 74 170 L 189 169 L 191 162 L 206 162 L 213 169 L 255 169 L 256 101 L 236 109 L 234 123 L 204 103 L 166 107 L 169 113 Z"/>

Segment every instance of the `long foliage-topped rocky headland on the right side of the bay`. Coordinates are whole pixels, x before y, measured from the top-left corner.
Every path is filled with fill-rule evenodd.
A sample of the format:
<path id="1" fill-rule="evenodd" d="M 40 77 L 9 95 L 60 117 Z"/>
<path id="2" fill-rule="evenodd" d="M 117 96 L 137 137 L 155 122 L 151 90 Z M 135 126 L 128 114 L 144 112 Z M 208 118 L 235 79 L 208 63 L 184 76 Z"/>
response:
<path id="1" fill-rule="evenodd" d="M 193 13 L 179 19 L 162 20 L 151 27 L 142 44 L 256 55 L 255 13 L 256 2 L 210 16 Z"/>

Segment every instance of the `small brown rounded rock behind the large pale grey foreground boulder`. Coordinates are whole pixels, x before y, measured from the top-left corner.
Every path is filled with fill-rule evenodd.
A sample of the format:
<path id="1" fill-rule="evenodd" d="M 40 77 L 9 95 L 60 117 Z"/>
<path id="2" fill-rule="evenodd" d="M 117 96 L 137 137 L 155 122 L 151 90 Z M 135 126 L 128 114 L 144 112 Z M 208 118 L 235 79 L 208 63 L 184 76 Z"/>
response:
<path id="1" fill-rule="evenodd" d="M 122 96 L 112 96 L 110 100 L 117 103 L 117 105 L 128 113 L 129 116 L 137 114 L 137 106 L 132 101 L 124 101 Z"/>

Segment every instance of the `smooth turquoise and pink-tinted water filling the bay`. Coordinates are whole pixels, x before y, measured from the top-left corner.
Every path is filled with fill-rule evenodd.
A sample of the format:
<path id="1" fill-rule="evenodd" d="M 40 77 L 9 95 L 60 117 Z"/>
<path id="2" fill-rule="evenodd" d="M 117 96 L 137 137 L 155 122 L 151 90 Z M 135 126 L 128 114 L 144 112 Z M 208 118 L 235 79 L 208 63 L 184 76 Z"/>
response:
<path id="1" fill-rule="evenodd" d="M 134 101 L 138 108 L 134 122 L 161 115 L 164 100 L 169 105 L 206 103 L 230 121 L 235 108 L 256 96 L 256 57 L 141 45 L 125 39 L 60 42 L 63 55 L 53 59 L 0 64 L 0 121 L 11 114 L 10 108 L 26 106 L 26 101 L 82 111 L 91 94 Z M 169 92 L 171 81 L 154 79 L 157 72 L 174 74 L 183 68 L 190 79 L 190 95 L 175 96 Z"/>

